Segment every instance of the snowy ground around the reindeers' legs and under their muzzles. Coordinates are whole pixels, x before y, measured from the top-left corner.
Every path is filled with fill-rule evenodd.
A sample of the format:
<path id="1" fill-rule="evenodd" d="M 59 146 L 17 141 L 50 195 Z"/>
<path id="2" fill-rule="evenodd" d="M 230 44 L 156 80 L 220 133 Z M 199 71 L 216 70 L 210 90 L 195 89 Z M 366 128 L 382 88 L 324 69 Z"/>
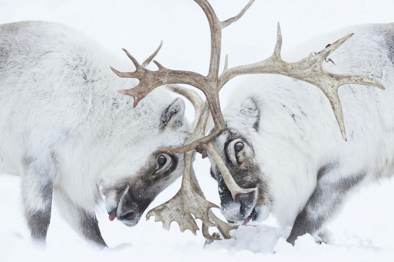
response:
<path id="1" fill-rule="evenodd" d="M 195 163 L 195 169 L 208 169 L 208 161 L 198 162 L 202 167 L 197 168 Z M 241 226 L 231 231 L 235 237 L 233 239 L 215 241 L 203 248 L 201 231 L 197 231 L 197 236 L 190 231 L 181 233 L 175 222 L 171 224 L 170 231 L 165 231 L 162 223 L 154 222 L 153 217 L 148 221 L 141 219 L 138 225 L 129 228 L 117 220 L 110 222 L 103 209 L 99 213 L 99 225 L 110 248 L 98 250 L 85 243 L 62 221 L 55 206 L 47 249 L 43 251 L 34 247 L 28 236 L 22 217 L 19 178 L 4 174 L 0 179 L 0 209 L 4 214 L 0 217 L 0 260 L 6 262 L 109 261 L 123 257 L 130 257 L 133 261 L 391 261 L 394 256 L 394 224 L 391 221 L 394 209 L 388 205 L 388 200 L 394 198 L 394 191 L 390 181 L 362 188 L 348 200 L 338 217 L 328 226 L 331 231 L 329 244 L 317 244 L 314 237 L 305 235 L 299 237 L 293 247 L 285 240 L 290 229 L 280 229 L 275 219 L 270 217 L 257 227 Z M 208 176 L 201 176 L 199 181 L 207 198 L 219 203 L 214 181 Z M 150 208 L 171 198 L 179 186 L 180 180 L 162 192 Z"/>

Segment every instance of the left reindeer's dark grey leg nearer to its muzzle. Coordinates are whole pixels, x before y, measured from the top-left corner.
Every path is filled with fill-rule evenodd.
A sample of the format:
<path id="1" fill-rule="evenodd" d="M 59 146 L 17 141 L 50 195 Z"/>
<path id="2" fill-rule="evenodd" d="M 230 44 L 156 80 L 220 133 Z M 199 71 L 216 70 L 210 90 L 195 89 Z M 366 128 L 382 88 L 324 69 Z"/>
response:
<path id="1" fill-rule="evenodd" d="M 88 242 L 101 248 L 107 247 L 101 236 L 99 223 L 94 212 L 78 207 L 66 194 L 59 191 L 55 191 L 54 200 L 59 207 L 61 216 L 72 229 Z"/>

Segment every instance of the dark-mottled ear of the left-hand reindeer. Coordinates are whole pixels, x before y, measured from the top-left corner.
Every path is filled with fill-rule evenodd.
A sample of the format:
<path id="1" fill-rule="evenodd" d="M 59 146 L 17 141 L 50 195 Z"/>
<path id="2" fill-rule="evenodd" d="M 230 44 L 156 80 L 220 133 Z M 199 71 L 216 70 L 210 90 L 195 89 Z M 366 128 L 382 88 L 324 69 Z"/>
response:
<path id="1" fill-rule="evenodd" d="M 160 117 L 159 130 L 162 131 L 167 127 L 182 126 L 184 115 L 185 102 L 178 97 L 164 110 L 162 117 Z"/>

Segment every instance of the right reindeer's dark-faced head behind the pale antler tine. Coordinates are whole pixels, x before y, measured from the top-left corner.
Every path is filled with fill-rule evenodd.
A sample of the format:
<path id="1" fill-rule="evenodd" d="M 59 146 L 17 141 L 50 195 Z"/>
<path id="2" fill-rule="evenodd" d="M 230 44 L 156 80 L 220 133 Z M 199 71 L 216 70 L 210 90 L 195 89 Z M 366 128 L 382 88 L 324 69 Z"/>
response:
<path id="1" fill-rule="evenodd" d="M 234 181 L 243 188 L 257 188 L 247 194 L 238 194 L 233 199 L 215 160 L 211 162 L 211 176 L 217 181 L 221 200 L 221 213 L 227 221 L 246 224 L 250 220 L 264 220 L 271 208 L 269 178 L 260 168 L 263 163 L 258 157 L 260 145 L 260 106 L 253 97 L 242 99 L 237 96 L 230 110 L 223 113 L 227 128 L 211 143 L 224 160 Z"/>

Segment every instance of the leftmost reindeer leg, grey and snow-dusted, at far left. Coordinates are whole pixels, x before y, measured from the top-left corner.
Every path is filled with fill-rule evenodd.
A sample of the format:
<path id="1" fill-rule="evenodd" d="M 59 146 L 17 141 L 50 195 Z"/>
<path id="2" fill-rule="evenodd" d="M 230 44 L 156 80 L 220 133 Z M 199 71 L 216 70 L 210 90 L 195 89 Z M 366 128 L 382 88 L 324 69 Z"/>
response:
<path id="1" fill-rule="evenodd" d="M 43 164 L 32 157 L 24 158 L 22 164 L 24 170 L 21 191 L 24 215 L 33 242 L 45 246 L 52 209 L 52 164 Z"/>

